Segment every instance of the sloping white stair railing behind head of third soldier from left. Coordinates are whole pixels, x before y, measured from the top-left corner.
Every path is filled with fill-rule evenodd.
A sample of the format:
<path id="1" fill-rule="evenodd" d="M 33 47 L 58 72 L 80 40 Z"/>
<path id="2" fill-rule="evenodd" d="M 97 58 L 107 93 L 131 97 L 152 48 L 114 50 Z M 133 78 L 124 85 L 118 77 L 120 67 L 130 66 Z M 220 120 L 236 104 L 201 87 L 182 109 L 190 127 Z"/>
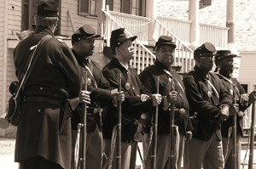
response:
<path id="1" fill-rule="evenodd" d="M 104 24 L 105 25 L 104 37 L 106 37 L 107 45 L 109 46 L 111 31 L 124 26 L 121 25 L 118 22 L 118 20 L 115 20 L 112 14 L 108 13 L 108 11 L 102 10 L 102 12 L 106 16 L 106 20 Z M 130 30 L 126 29 L 126 27 L 125 27 L 125 33 L 130 37 L 132 36 Z M 131 59 L 130 64 L 132 67 L 137 68 L 137 73 L 139 74 L 145 67 L 147 67 L 148 65 L 152 65 L 154 63 L 155 56 L 138 39 L 136 39 L 133 42 L 133 46 L 135 48 L 136 53 L 134 58 Z"/>

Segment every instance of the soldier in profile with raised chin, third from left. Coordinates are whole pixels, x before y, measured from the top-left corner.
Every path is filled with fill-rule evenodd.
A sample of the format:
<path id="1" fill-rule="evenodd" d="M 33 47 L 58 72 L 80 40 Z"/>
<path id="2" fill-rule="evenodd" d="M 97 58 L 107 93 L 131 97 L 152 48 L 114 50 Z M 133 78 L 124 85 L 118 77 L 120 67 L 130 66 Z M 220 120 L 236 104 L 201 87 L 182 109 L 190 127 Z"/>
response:
<path id="1" fill-rule="evenodd" d="M 137 131 L 136 121 L 140 118 L 143 110 L 152 110 L 154 106 L 160 104 L 160 94 L 149 94 L 140 81 L 137 70 L 129 67 L 129 61 L 134 57 L 134 48 L 132 42 L 137 38 L 126 37 L 125 29 L 120 28 L 112 31 L 110 38 L 110 48 L 113 53 L 113 59 L 106 65 L 102 72 L 110 86 L 118 87 L 118 75 L 121 75 L 121 87 L 125 92 L 125 101 L 122 104 L 122 132 L 121 132 L 121 164 L 122 169 L 135 168 L 137 151 L 137 142 L 134 140 L 134 134 Z M 117 124 L 117 115 L 113 110 L 108 110 L 106 119 L 103 123 L 103 137 L 105 152 L 108 160 L 110 156 L 111 138 L 114 126 Z M 112 139 L 113 141 L 113 139 Z M 132 152 L 132 153 L 131 153 Z M 111 166 L 111 162 L 108 165 Z M 113 158 L 113 168 L 116 168 L 116 161 Z M 106 166 L 107 167 L 107 166 Z"/>

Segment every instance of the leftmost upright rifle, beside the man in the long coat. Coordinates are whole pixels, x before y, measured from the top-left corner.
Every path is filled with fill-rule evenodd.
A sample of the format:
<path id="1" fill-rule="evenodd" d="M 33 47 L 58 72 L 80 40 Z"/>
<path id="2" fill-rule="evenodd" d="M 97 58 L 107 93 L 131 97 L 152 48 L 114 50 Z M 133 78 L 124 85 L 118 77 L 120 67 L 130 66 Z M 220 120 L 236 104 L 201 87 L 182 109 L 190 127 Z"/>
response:
<path id="1" fill-rule="evenodd" d="M 87 71 L 84 70 L 84 87 L 83 89 L 87 91 Z M 86 115 L 87 115 L 87 104 L 83 104 L 83 117 L 82 123 L 78 124 L 77 142 L 75 148 L 75 168 L 85 169 L 86 164 Z M 82 131 L 82 132 L 81 132 Z M 82 134 L 82 136 L 81 136 Z"/>

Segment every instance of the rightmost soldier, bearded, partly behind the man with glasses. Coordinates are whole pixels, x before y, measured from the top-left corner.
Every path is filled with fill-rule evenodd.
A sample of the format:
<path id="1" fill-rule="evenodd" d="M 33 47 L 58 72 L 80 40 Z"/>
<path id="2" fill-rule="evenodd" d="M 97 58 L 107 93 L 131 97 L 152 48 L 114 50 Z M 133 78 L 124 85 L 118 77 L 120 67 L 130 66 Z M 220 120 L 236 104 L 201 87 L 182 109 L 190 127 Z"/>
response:
<path id="1" fill-rule="evenodd" d="M 231 54 L 230 50 L 218 50 L 215 56 L 216 74 L 219 79 L 222 80 L 224 87 L 230 91 L 230 94 L 233 95 L 234 101 L 238 105 L 236 108 L 236 160 L 232 161 L 232 149 L 234 146 L 234 140 L 232 139 L 233 133 L 231 129 L 234 126 L 233 118 L 234 115 L 230 115 L 227 121 L 223 121 L 221 127 L 221 133 L 223 136 L 223 152 L 224 152 L 224 161 L 225 169 L 234 168 L 234 163 L 236 162 L 236 168 L 240 168 L 240 157 L 241 157 L 241 136 L 242 136 L 242 127 L 243 127 L 243 115 L 244 111 L 248 107 L 248 94 L 245 92 L 241 84 L 236 80 L 236 78 L 231 77 L 231 74 L 234 70 L 234 59 L 237 55 Z M 235 104 L 235 103 L 233 103 Z M 233 159 L 234 160 L 234 159 Z M 232 167 L 233 166 L 233 167 Z"/>

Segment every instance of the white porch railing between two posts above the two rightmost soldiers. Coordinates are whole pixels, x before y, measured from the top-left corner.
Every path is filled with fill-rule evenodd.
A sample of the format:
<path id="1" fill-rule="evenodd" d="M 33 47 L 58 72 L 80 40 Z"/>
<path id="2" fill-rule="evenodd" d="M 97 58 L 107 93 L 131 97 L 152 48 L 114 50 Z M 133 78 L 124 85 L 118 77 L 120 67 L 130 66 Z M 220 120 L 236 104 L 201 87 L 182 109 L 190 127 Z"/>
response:
<path id="1" fill-rule="evenodd" d="M 228 48 L 228 27 L 200 24 L 200 44 L 212 42 L 217 48 Z"/>

